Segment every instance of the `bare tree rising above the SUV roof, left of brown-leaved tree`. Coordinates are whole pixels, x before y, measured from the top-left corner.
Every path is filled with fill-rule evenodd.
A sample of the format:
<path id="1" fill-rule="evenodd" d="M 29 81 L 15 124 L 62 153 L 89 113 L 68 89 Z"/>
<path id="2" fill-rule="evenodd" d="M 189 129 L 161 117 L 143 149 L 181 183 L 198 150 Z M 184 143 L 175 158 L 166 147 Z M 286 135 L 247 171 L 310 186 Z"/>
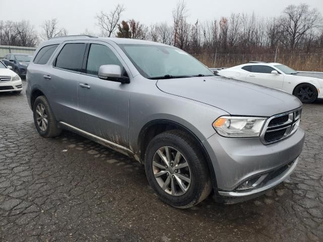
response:
<path id="1" fill-rule="evenodd" d="M 116 30 L 121 18 L 121 14 L 125 11 L 123 5 L 118 4 L 114 10 L 109 13 L 103 13 L 96 16 L 97 25 L 100 27 L 103 36 L 111 37 L 111 34 Z"/>

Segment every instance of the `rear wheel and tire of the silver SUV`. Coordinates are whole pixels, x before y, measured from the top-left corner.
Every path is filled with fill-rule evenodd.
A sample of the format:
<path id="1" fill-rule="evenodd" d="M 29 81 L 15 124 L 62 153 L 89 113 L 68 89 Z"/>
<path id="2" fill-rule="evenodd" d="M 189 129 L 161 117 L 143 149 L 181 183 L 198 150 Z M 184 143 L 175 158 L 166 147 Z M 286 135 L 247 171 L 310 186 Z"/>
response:
<path id="1" fill-rule="evenodd" d="M 41 122 L 38 123 L 40 121 L 40 115 L 37 111 L 40 111 L 41 113 L 42 110 L 44 110 L 44 112 L 42 113 Z M 40 136 L 44 138 L 50 138 L 59 136 L 61 134 L 62 130 L 58 128 L 56 118 L 51 111 L 51 108 L 45 96 L 39 96 L 36 98 L 33 106 L 33 116 L 35 127 Z"/>

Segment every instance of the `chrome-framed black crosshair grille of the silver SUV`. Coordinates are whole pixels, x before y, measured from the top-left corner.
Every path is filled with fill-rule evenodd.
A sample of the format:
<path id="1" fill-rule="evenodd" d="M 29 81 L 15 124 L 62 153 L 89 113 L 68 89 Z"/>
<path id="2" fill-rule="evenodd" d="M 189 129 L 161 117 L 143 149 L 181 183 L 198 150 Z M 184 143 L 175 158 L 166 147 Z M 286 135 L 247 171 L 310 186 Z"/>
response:
<path id="1" fill-rule="evenodd" d="M 294 134 L 299 126 L 302 108 L 267 119 L 260 135 L 263 144 L 272 144 Z"/>

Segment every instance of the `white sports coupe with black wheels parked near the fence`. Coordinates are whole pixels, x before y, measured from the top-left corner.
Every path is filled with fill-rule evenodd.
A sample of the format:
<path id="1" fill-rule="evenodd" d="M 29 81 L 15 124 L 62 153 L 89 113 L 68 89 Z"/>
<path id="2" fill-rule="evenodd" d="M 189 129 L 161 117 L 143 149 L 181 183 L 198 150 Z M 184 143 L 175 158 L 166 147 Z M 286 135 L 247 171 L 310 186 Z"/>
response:
<path id="1" fill-rule="evenodd" d="M 323 98 L 323 74 L 296 72 L 279 63 L 250 62 L 217 72 L 223 77 L 293 94 L 303 103 L 311 103 L 317 98 Z"/>

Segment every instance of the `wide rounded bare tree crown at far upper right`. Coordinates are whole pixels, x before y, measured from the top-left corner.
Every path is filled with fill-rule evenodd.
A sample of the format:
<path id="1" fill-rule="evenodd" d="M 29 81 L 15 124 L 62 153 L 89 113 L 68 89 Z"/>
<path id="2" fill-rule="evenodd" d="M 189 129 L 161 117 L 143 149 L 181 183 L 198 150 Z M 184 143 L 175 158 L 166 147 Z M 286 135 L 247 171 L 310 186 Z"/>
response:
<path id="1" fill-rule="evenodd" d="M 307 4 L 289 5 L 280 19 L 286 32 L 287 44 L 293 50 L 301 38 L 311 29 L 319 27 L 321 15 L 316 9 L 309 10 Z"/>

